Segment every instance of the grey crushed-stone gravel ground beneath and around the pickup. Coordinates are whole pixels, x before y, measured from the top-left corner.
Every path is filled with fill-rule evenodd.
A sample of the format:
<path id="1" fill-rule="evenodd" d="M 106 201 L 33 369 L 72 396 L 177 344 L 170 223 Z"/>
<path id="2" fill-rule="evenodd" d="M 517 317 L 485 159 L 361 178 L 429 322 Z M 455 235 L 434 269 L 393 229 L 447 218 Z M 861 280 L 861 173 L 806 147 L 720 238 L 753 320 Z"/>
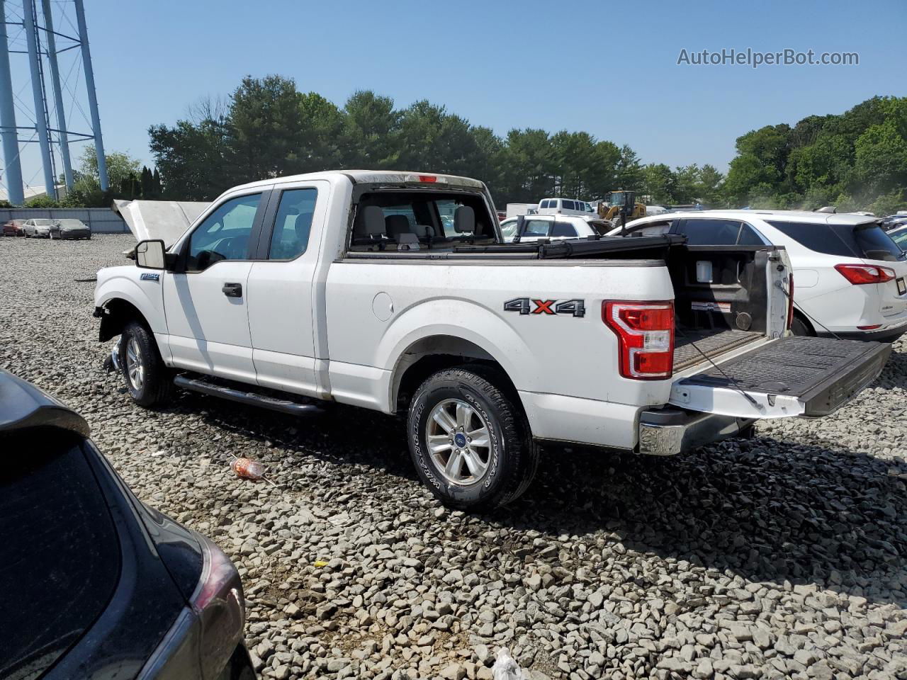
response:
<path id="1" fill-rule="evenodd" d="M 509 646 L 536 680 L 907 677 L 907 343 L 832 417 L 668 460 L 550 452 L 522 500 L 474 517 L 434 501 L 380 414 L 134 406 L 73 281 L 131 243 L 0 238 L 0 367 L 234 559 L 262 676 L 491 678 Z"/>

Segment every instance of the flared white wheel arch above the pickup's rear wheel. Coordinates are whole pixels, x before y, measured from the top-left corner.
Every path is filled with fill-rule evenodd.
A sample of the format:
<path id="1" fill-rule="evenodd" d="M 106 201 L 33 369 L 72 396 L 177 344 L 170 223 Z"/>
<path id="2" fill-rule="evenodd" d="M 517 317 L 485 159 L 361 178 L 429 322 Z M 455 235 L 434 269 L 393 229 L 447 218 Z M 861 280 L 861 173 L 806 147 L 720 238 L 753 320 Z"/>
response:
<path id="1" fill-rule="evenodd" d="M 469 300 L 424 300 L 396 315 L 387 326 L 375 352 L 375 365 L 393 374 L 406 350 L 420 340 L 448 335 L 482 348 L 501 364 L 520 390 L 533 390 L 537 374 L 532 352 L 522 337 L 487 307 Z"/>

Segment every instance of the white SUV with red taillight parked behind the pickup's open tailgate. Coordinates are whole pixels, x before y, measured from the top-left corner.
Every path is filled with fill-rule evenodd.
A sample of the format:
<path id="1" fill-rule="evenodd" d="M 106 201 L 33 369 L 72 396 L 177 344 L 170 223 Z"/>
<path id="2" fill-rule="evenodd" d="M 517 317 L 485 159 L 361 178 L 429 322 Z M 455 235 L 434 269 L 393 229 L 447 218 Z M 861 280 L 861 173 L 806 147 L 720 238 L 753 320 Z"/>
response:
<path id="1" fill-rule="evenodd" d="M 784 246 L 794 267 L 795 335 L 893 342 L 907 332 L 907 260 L 878 219 L 793 210 L 705 210 L 635 219 L 625 236 L 691 245 Z M 621 229 L 610 231 L 620 236 Z"/>

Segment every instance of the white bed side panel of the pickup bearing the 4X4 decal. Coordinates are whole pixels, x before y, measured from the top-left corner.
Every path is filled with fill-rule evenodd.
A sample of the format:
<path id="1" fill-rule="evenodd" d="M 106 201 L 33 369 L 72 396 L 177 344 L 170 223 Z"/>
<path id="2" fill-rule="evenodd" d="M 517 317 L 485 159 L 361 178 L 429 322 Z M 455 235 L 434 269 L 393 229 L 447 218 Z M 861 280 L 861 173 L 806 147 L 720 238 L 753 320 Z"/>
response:
<path id="1" fill-rule="evenodd" d="M 437 335 L 478 345 L 521 391 L 638 405 L 668 400 L 669 381 L 619 377 L 617 337 L 601 321 L 604 299 L 673 298 L 659 262 L 347 259 L 330 267 L 326 296 L 338 401 L 390 411 L 391 377 L 401 357 Z M 585 316 L 504 311 L 505 302 L 522 297 L 582 300 Z M 356 384 L 368 395 L 353 394 Z"/>

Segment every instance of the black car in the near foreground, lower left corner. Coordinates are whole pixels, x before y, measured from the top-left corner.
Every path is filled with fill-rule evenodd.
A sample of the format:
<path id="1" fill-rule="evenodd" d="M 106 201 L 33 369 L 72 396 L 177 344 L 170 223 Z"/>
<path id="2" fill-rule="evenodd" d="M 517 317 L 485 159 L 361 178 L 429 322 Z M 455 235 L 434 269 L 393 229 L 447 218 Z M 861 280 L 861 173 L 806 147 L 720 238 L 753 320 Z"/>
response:
<path id="1" fill-rule="evenodd" d="M 142 504 L 88 436 L 0 370 L 0 677 L 254 680 L 236 568 Z"/>

